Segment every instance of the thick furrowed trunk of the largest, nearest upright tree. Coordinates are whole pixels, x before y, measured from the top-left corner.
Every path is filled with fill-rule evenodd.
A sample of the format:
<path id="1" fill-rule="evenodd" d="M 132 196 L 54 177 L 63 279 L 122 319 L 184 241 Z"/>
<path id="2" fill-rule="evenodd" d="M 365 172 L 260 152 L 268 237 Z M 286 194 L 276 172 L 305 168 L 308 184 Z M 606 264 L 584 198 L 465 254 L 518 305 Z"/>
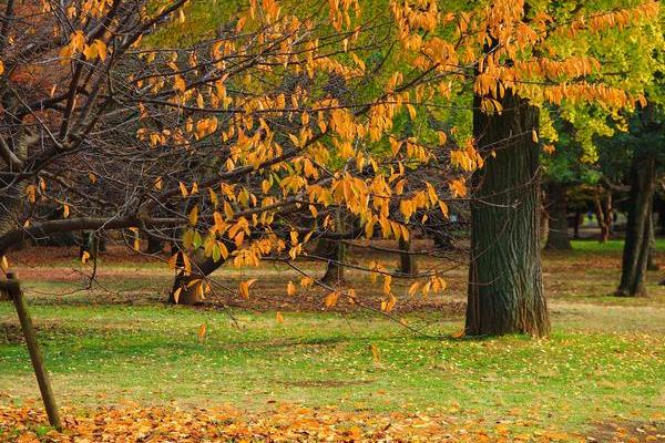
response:
<path id="1" fill-rule="evenodd" d="M 468 336 L 550 332 L 539 248 L 539 111 L 509 90 L 501 115 L 480 111 L 473 133 L 491 148 L 471 205 Z"/>

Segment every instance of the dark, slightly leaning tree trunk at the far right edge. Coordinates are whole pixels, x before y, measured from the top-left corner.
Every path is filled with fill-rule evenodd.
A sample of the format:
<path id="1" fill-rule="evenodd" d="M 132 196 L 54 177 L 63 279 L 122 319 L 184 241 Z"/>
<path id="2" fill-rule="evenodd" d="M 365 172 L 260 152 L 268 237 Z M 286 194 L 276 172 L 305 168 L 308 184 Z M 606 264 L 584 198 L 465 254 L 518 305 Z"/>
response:
<path id="1" fill-rule="evenodd" d="M 621 284 L 617 296 L 646 296 L 644 278 L 648 264 L 652 203 L 656 178 L 656 156 L 637 150 L 631 165 L 628 223 L 624 244 Z"/>

